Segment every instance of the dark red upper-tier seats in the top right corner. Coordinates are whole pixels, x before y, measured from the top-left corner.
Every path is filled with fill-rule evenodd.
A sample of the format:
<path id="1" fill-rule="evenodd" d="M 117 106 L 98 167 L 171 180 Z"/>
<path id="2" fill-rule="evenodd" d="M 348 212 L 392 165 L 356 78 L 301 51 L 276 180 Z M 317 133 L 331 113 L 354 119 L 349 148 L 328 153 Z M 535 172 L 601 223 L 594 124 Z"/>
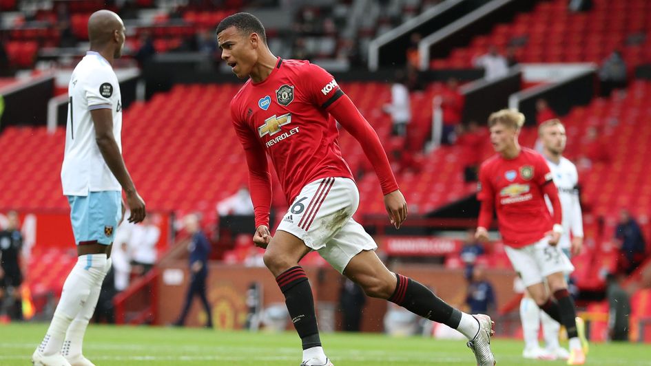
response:
<path id="1" fill-rule="evenodd" d="M 601 63 L 614 50 L 621 50 L 630 70 L 651 61 L 651 3 L 592 3 L 592 10 L 573 13 L 565 0 L 540 1 L 532 12 L 495 25 L 490 34 L 473 37 L 470 45 L 455 48 L 448 58 L 432 60 L 430 66 L 472 67 L 473 58 L 485 54 L 488 45 L 502 52 L 515 47 L 515 58 L 523 63 Z"/>

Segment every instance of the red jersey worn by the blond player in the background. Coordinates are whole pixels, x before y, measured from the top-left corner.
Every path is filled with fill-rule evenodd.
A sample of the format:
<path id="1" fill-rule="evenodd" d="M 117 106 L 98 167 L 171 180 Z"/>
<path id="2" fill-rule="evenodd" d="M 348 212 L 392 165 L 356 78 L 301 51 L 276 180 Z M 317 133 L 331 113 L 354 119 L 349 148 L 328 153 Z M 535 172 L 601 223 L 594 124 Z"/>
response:
<path id="1" fill-rule="evenodd" d="M 504 244 L 521 248 L 552 230 L 543 187 L 554 184 L 542 155 L 522 148 L 515 159 L 495 155 L 479 169 L 480 201 L 493 200 Z"/>

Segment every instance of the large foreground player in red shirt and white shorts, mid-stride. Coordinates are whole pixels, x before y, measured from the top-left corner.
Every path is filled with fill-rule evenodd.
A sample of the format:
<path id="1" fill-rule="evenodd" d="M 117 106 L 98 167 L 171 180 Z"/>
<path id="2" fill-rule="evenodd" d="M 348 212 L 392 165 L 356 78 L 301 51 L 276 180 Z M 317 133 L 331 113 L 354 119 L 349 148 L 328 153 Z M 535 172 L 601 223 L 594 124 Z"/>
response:
<path id="1" fill-rule="evenodd" d="M 238 78 L 249 78 L 231 101 L 231 116 L 249 166 L 256 215 L 253 239 L 267 248 L 265 264 L 285 295 L 302 341 L 301 365 L 332 365 L 321 347 L 307 275 L 298 265 L 311 250 L 358 283 L 367 295 L 459 330 L 468 338 L 477 363 L 494 365 L 490 318 L 460 312 L 420 283 L 390 272 L 375 255 L 373 239 L 352 219 L 360 197 L 339 149 L 335 120 L 360 142 L 373 163 L 395 228 L 406 218 L 407 205 L 378 135 L 333 77 L 308 61 L 273 56 L 265 28 L 251 14 L 224 19 L 217 27 L 217 41 L 222 58 Z M 267 155 L 291 202 L 274 237 L 269 233 Z"/>

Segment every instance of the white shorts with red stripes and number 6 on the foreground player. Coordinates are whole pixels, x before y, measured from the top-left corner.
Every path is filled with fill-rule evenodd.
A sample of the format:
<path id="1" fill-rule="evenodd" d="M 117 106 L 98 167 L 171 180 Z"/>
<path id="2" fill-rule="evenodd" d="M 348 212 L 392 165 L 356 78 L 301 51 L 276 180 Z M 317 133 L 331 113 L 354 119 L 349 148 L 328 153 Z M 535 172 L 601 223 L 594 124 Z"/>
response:
<path id="1" fill-rule="evenodd" d="M 359 205 L 360 193 L 353 180 L 322 178 L 303 187 L 276 230 L 298 237 L 343 273 L 355 255 L 378 248 L 364 227 L 353 220 Z"/>

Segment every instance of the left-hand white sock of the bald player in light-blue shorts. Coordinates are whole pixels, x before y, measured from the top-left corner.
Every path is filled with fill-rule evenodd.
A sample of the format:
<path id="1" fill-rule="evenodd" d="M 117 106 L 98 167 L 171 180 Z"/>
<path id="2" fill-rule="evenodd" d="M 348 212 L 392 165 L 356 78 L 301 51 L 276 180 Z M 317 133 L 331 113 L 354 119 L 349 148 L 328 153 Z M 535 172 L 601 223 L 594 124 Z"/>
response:
<path id="1" fill-rule="evenodd" d="M 50 356 L 61 352 L 65 332 L 83 309 L 99 278 L 103 278 L 105 265 L 105 254 L 81 255 L 77 258 L 77 263 L 63 283 L 61 299 L 54 310 L 50 328 L 39 345 L 41 354 Z"/>

